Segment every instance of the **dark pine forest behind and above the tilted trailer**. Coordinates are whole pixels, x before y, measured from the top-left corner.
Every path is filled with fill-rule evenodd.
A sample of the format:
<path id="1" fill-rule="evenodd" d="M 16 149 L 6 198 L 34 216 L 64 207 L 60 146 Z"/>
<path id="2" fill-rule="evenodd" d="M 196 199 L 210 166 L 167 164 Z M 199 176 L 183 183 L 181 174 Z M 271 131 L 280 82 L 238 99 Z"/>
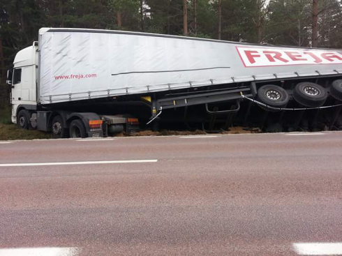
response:
<path id="1" fill-rule="evenodd" d="M 6 68 L 18 50 L 38 40 L 40 27 L 142 29 L 140 0 L 0 0 L 6 18 L 0 36 Z M 189 36 L 217 38 L 218 0 L 188 0 Z M 143 0 L 143 29 L 181 35 L 182 0 Z M 311 45 L 311 0 L 222 0 L 222 39 L 277 45 Z M 321 0 L 319 45 L 342 47 L 340 0 Z M 197 26 L 195 24 L 197 10 Z M 121 27 L 117 25 L 121 14 Z M 197 31 L 195 31 L 197 27 Z M 197 32 L 197 33 L 196 33 Z"/>

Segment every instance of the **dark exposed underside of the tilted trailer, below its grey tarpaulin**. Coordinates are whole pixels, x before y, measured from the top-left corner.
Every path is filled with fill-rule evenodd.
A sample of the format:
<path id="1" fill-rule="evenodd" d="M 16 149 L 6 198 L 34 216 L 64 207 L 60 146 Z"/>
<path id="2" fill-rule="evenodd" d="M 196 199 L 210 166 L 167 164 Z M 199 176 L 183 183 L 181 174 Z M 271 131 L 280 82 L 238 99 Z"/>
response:
<path id="1" fill-rule="evenodd" d="M 215 133 L 232 126 L 260 128 L 264 132 L 341 130 L 342 85 L 341 95 L 336 96 L 331 91 L 332 84 L 341 79 L 342 75 L 327 75 L 221 84 L 40 105 L 38 111 L 94 112 L 101 116 L 126 114 L 139 119 L 140 129 L 151 130 L 165 128 Z M 308 84 L 304 87 L 308 94 L 304 102 L 294 96 L 300 84 Z M 267 97 L 261 97 L 264 92 L 260 92 L 265 86 L 271 86 L 265 91 L 265 96 L 271 99 L 268 102 Z M 316 97 L 315 88 L 322 90 L 323 100 L 310 98 Z M 288 97 L 283 105 L 277 105 L 277 91 Z"/>

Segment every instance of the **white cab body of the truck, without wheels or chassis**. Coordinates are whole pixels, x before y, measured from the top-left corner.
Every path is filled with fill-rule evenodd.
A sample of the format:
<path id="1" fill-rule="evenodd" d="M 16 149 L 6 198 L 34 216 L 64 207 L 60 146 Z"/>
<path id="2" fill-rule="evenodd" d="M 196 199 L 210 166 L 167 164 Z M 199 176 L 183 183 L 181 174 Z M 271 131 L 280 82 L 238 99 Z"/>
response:
<path id="1" fill-rule="evenodd" d="M 17 123 L 18 106 L 37 105 L 38 42 L 18 52 L 13 65 L 8 72 L 8 84 L 12 86 L 12 121 Z"/>

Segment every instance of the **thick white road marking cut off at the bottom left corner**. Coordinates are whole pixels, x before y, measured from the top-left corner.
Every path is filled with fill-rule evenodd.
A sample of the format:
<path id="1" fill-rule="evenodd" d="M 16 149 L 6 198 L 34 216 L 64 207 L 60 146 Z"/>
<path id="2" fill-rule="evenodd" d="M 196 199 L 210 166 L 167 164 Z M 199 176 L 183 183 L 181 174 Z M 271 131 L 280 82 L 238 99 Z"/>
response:
<path id="1" fill-rule="evenodd" d="M 6 248 L 0 249 L 0 256 L 76 256 L 77 248 Z"/>

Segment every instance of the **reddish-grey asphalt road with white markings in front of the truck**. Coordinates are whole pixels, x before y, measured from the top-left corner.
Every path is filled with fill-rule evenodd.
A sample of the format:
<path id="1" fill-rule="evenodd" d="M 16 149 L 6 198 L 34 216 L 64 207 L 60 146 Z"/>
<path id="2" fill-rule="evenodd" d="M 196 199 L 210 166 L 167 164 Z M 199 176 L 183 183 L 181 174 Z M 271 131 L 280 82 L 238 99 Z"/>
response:
<path id="1" fill-rule="evenodd" d="M 0 256 L 342 255 L 342 133 L 0 142 Z"/>

